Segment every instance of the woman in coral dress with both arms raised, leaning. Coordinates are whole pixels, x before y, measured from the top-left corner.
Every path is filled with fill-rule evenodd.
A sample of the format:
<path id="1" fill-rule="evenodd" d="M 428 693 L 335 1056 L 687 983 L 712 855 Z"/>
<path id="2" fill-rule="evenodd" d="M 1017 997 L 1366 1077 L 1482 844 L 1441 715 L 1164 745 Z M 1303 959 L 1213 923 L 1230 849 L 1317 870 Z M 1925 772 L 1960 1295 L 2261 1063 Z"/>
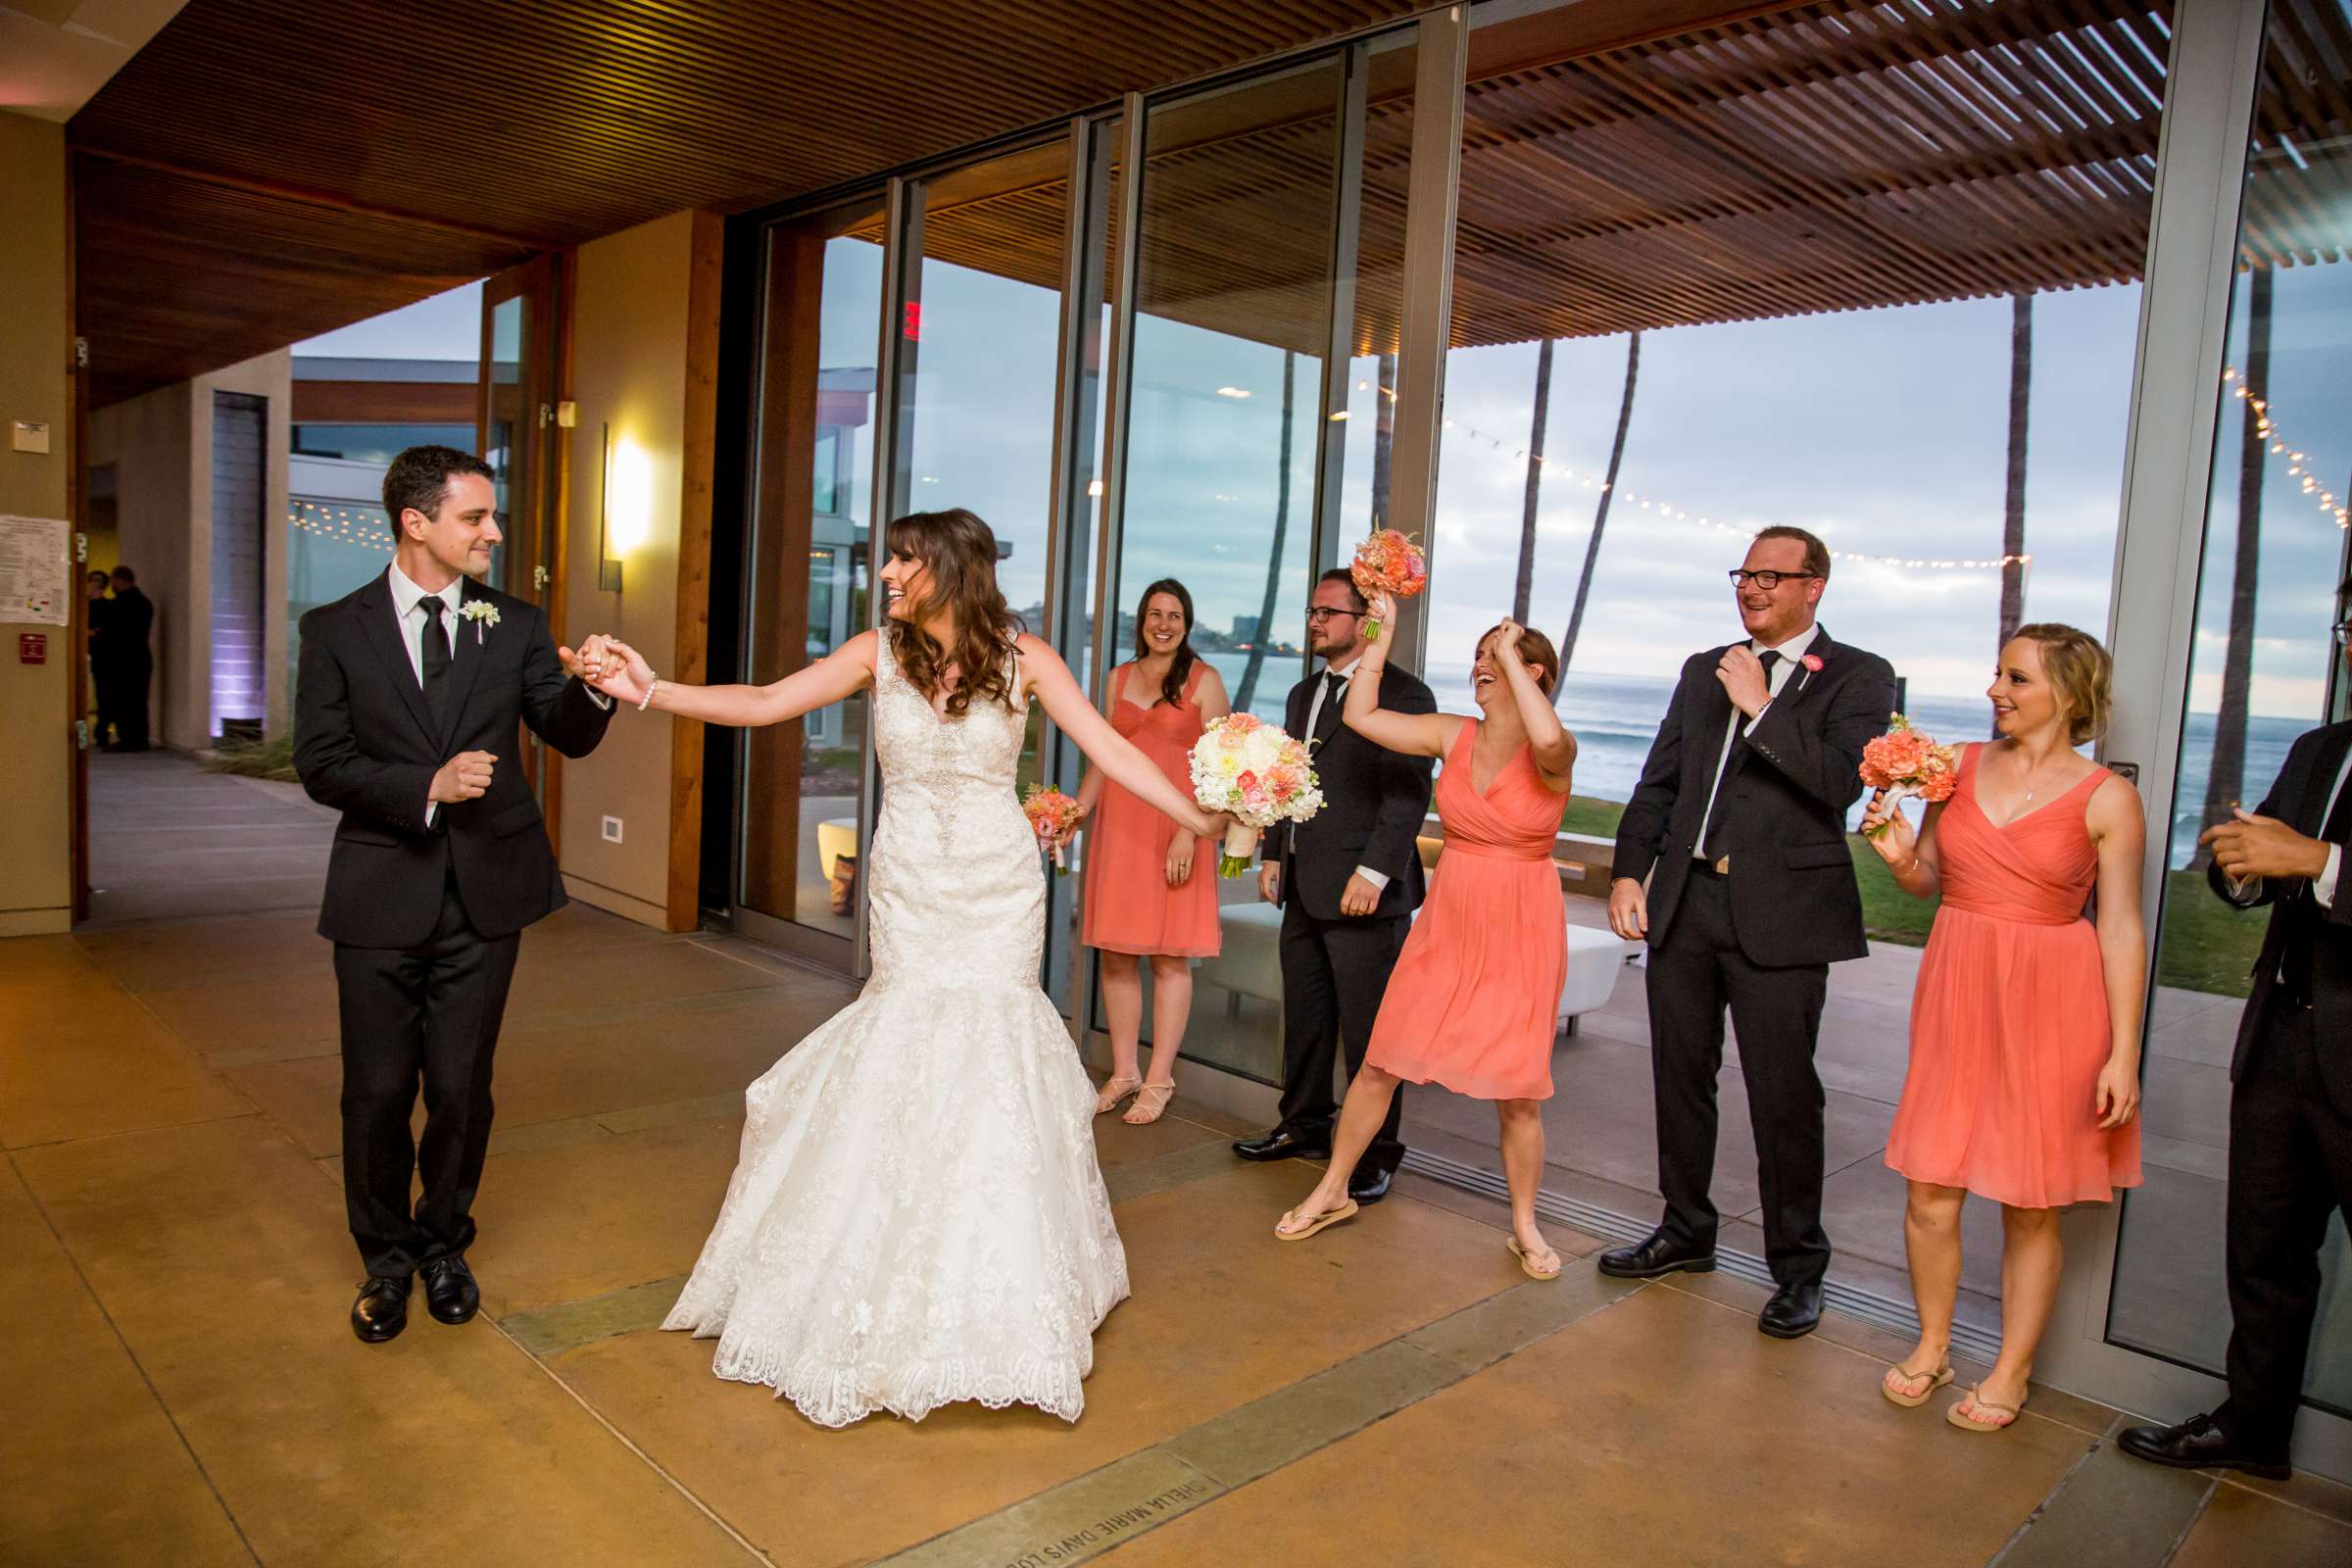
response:
<path id="1" fill-rule="evenodd" d="M 1381 668 L 1395 604 L 1376 597 L 1381 635 L 1348 682 L 1348 729 L 1392 752 L 1442 757 L 1437 816 L 1446 846 L 1404 938 L 1371 1025 L 1364 1067 L 1331 1143 L 1331 1168 L 1275 1234 L 1303 1241 L 1355 1213 L 1348 1175 L 1397 1084 L 1444 1084 L 1494 1100 L 1510 1180 L 1510 1251 L 1534 1279 L 1559 1279 L 1559 1253 L 1536 1229 L 1543 1103 L 1552 1098 L 1552 1034 L 1569 971 L 1552 837 L 1569 799 L 1576 736 L 1559 726 L 1559 656 L 1543 632 L 1503 621 L 1479 637 L 1470 684 L 1484 717 L 1388 712 Z M 1371 679 L 1364 679 L 1369 675 Z"/>

